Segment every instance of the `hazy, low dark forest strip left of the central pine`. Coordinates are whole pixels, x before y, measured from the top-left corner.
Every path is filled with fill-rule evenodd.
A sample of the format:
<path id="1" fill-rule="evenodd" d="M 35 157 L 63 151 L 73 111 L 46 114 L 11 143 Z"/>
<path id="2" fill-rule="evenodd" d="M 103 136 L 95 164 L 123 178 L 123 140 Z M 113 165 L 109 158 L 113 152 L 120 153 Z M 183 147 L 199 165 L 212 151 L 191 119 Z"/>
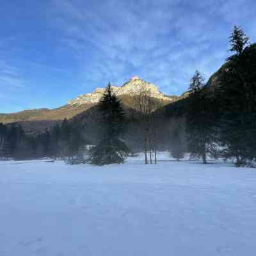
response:
<path id="1" fill-rule="evenodd" d="M 66 119 L 52 129 L 29 135 L 20 124 L 0 124 L 0 159 L 70 159 L 79 156 L 86 145 L 81 124 L 71 124 Z"/>

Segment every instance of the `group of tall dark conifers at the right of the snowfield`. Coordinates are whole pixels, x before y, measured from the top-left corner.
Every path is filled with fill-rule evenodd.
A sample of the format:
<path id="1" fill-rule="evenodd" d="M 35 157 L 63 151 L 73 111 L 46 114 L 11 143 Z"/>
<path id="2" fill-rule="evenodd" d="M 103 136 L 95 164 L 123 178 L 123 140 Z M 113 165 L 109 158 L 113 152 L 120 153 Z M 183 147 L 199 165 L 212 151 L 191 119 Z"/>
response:
<path id="1" fill-rule="evenodd" d="M 194 157 L 236 159 L 252 166 L 256 159 L 256 45 L 241 28 L 230 35 L 230 52 L 215 88 L 196 71 L 186 106 L 188 150 Z M 213 89 L 213 92 L 209 92 Z"/>

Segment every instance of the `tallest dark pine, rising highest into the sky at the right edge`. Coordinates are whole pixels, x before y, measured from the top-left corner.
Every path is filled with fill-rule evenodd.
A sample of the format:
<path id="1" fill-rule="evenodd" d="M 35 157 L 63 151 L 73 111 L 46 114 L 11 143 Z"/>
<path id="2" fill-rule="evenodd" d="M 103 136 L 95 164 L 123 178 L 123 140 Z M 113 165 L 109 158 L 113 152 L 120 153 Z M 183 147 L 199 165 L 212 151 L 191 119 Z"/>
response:
<path id="1" fill-rule="evenodd" d="M 234 28 L 230 36 L 231 52 L 219 77 L 216 98 L 220 104 L 220 140 L 225 158 L 235 157 L 243 166 L 256 157 L 256 45 L 248 45 L 242 29 Z"/>

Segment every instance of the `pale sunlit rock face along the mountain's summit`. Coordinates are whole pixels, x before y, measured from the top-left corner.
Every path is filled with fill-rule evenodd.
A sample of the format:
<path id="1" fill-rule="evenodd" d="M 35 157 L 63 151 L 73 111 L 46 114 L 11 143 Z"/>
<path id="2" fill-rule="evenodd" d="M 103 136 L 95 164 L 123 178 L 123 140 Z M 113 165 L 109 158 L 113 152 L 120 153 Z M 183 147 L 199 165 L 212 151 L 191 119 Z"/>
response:
<path id="1" fill-rule="evenodd" d="M 155 84 L 147 83 L 138 76 L 133 76 L 127 83 L 122 86 L 112 86 L 112 89 L 117 96 L 122 96 L 125 94 L 138 95 L 141 91 L 147 90 L 150 93 L 151 97 L 170 102 L 175 100 L 175 97 L 167 97 L 163 93 L 159 92 Z M 104 88 L 96 88 L 92 93 L 86 93 L 80 95 L 76 99 L 70 100 L 68 104 L 82 105 L 88 103 L 97 103 L 102 97 L 104 90 Z"/>

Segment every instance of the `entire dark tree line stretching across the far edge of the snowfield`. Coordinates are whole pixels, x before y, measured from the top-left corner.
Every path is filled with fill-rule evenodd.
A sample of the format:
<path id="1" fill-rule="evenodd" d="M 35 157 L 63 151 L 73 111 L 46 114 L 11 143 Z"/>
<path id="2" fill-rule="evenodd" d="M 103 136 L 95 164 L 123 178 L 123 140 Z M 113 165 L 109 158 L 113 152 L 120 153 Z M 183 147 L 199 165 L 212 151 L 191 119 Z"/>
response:
<path id="1" fill-rule="evenodd" d="M 157 151 L 173 158 L 222 157 L 236 166 L 253 166 L 256 159 L 256 45 L 236 26 L 230 35 L 230 56 L 218 72 L 215 86 L 205 84 L 198 70 L 188 86 L 188 97 L 172 104 L 176 116 L 163 115 L 164 102 L 141 86 L 132 95 L 129 115 L 111 84 L 96 106 L 99 118 L 87 124 L 79 118 L 63 120 L 41 134 L 25 134 L 17 124 L 0 124 L 0 157 L 51 157 L 69 163 L 124 163 L 128 154 L 143 152 L 145 164 L 157 163 Z M 180 107 L 184 111 L 180 111 Z M 126 109 L 127 112 L 127 109 Z M 93 130 L 92 131 L 92 127 Z M 99 131 L 96 127 L 100 127 Z M 97 130 L 97 131 L 96 131 Z M 96 137 L 94 134 L 97 134 Z M 86 145 L 93 145 L 90 150 Z M 84 154 L 86 153 L 86 159 Z"/>

